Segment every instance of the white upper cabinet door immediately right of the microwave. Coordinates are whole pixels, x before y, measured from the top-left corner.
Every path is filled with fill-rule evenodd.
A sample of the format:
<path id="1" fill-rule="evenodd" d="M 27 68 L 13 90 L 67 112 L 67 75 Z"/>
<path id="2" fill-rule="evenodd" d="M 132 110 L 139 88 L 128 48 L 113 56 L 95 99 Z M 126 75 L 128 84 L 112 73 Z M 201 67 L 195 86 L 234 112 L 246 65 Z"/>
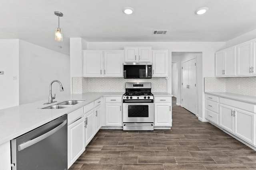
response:
<path id="1" fill-rule="evenodd" d="M 168 77 L 168 50 L 152 50 L 152 77 Z"/>

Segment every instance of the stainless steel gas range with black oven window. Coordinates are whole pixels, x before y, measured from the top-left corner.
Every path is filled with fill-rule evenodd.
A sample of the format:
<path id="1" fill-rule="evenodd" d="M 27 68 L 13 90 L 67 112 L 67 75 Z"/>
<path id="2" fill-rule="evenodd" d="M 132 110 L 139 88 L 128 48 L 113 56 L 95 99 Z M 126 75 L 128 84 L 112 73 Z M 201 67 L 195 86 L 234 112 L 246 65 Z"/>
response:
<path id="1" fill-rule="evenodd" d="M 154 130 L 154 96 L 151 83 L 126 83 L 123 95 L 123 130 Z"/>

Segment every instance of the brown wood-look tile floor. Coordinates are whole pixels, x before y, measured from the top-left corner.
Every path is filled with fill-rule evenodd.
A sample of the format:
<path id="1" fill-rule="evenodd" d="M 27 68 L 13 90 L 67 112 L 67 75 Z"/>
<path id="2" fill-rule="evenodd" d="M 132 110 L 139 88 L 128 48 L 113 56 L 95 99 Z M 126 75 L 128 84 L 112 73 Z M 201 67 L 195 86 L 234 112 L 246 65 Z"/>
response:
<path id="1" fill-rule="evenodd" d="M 256 169 L 256 151 L 172 98 L 171 130 L 100 130 L 69 170 Z"/>

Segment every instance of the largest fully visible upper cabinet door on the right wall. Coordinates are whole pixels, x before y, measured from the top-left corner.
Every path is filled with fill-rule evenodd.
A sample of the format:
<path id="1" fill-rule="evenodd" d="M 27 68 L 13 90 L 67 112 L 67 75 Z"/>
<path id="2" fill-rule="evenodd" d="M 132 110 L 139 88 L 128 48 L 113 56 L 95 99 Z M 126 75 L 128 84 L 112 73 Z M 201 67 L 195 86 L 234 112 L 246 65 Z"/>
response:
<path id="1" fill-rule="evenodd" d="M 252 41 L 236 46 L 237 49 L 237 74 L 248 76 L 251 74 L 252 63 Z"/>

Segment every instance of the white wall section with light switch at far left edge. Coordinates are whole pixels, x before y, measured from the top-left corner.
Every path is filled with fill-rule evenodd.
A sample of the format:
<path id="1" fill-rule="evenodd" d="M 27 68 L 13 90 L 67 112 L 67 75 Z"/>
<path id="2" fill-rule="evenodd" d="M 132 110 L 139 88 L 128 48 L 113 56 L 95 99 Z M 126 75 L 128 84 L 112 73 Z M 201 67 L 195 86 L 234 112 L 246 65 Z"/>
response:
<path id="1" fill-rule="evenodd" d="M 0 71 L 4 71 L 0 74 L 0 109 L 19 105 L 18 39 L 0 39 Z"/>

